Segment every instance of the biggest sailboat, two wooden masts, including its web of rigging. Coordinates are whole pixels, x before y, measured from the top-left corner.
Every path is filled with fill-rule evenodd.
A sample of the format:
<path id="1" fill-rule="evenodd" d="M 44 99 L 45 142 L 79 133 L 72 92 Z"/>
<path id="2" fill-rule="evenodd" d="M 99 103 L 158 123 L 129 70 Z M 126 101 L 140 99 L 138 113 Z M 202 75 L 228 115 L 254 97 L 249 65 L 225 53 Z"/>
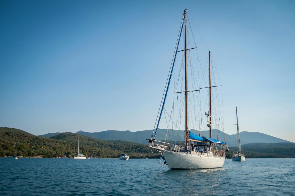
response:
<path id="1" fill-rule="evenodd" d="M 180 38 L 182 35 L 183 27 L 184 27 L 184 50 L 178 51 L 178 46 L 179 46 Z M 213 137 L 212 137 L 212 125 L 214 124 L 213 118 L 217 119 L 217 115 L 215 115 L 215 117 L 213 117 L 212 112 L 213 112 L 213 109 L 218 110 L 218 112 L 220 111 L 219 108 L 217 108 L 218 106 L 220 106 L 220 104 L 219 105 L 217 104 L 217 106 L 215 105 L 216 107 L 212 109 L 212 88 L 218 87 L 221 85 L 212 86 L 212 84 L 211 84 L 211 72 L 212 72 L 211 66 L 212 65 L 211 65 L 211 52 L 209 51 L 209 86 L 201 88 L 200 83 L 198 83 L 198 81 L 196 81 L 196 79 L 195 79 L 196 77 L 194 75 L 194 70 L 193 70 L 193 65 L 191 63 L 192 58 L 190 58 L 189 63 L 190 63 L 190 69 L 191 69 L 190 73 L 192 75 L 191 79 L 195 79 L 190 84 L 198 83 L 199 89 L 198 90 L 188 89 L 189 88 L 189 85 L 188 85 L 188 57 L 190 54 L 189 50 L 196 49 L 196 47 L 187 48 L 187 45 L 189 44 L 189 42 L 187 42 L 187 37 L 188 37 L 187 28 L 188 28 L 187 27 L 187 11 L 185 9 L 184 13 L 183 13 L 183 18 L 181 21 L 181 28 L 180 28 L 179 34 L 178 34 L 178 42 L 176 43 L 173 61 L 171 63 L 167 83 L 165 85 L 165 91 L 164 91 L 165 94 L 163 94 L 163 98 L 161 101 L 161 106 L 160 106 L 160 109 L 158 112 L 157 120 L 156 120 L 156 123 L 154 126 L 153 134 L 151 136 L 151 139 L 147 139 L 148 145 L 149 145 L 149 148 L 151 149 L 152 152 L 156 150 L 161 153 L 160 160 L 158 160 L 158 163 L 162 164 L 161 161 L 163 160 L 164 164 L 162 164 L 162 165 L 164 165 L 164 166 L 168 165 L 168 167 L 170 167 L 171 169 L 219 168 L 219 167 L 222 167 L 224 164 L 225 151 L 228 151 L 228 149 L 227 149 L 227 144 L 226 144 L 224 138 L 223 138 L 223 141 L 220 141 L 220 140 L 218 140 L 218 138 L 213 139 Z M 174 99 L 173 99 L 173 103 L 171 104 L 172 109 L 171 109 L 171 112 L 168 112 L 164 108 L 164 105 L 166 102 L 168 89 L 169 89 L 169 86 L 171 83 L 173 69 L 175 67 L 176 55 L 178 52 L 183 52 L 184 63 L 182 61 L 181 68 L 179 69 L 180 70 L 179 75 L 175 76 L 176 79 L 174 80 L 174 91 L 180 91 L 180 92 L 174 92 Z M 183 71 L 184 71 L 184 76 L 183 76 Z M 179 81 L 179 78 L 180 78 L 180 80 L 181 80 L 181 78 L 184 78 L 184 84 Z M 203 78 L 204 78 L 204 76 L 203 76 Z M 176 89 L 177 86 L 180 89 Z M 184 90 L 182 89 L 183 86 L 184 86 Z M 194 88 L 196 88 L 196 85 L 194 85 Z M 208 136 L 204 136 L 204 135 L 200 136 L 200 132 L 203 133 L 203 131 L 199 131 L 199 135 L 198 135 L 198 134 L 193 133 L 194 132 L 193 129 L 189 130 L 189 118 L 192 119 L 190 121 L 192 124 L 194 124 L 194 126 L 196 126 L 196 124 L 199 124 L 199 130 L 202 130 L 202 124 L 204 124 L 204 123 L 200 122 L 202 120 L 201 117 L 198 117 L 198 118 L 200 118 L 199 119 L 200 121 L 198 119 L 196 119 L 196 117 L 195 118 L 192 117 L 193 115 L 196 116 L 196 113 L 198 113 L 198 111 L 200 111 L 200 114 L 201 114 L 201 110 L 202 110 L 201 104 L 199 106 L 194 105 L 197 102 L 195 100 L 198 100 L 200 103 L 200 99 L 201 99 L 201 98 L 199 98 L 199 97 L 201 97 L 201 96 L 199 96 L 199 94 L 194 94 L 194 93 L 200 92 L 201 89 L 208 90 L 205 93 L 207 96 L 207 98 L 206 98 L 207 101 L 205 101 L 205 104 L 208 104 L 208 102 L 209 102 L 209 104 L 208 104 L 209 111 L 208 111 L 208 113 L 205 112 L 205 115 L 207 117 L 207 127 L 209 128 L 209 135 Z M 191 94 L 189 95 L 189 93 L 191 93 Z M 176 94 L 177 94 L 177 99 L 175 97 Z M 184 96 L 183 96 L 183 94 L 184 94 Z M 178 101 L 178 98 L 179 98 L 178 95 L 180 96 L 180 99 L 179 99 L 180 103 L 175 104 L 175 102 Z M 192 113 L 191 116 L 189 116 L 189 110 Z M 158 131 L 158 127 L 159 127 L 159 123 L 160 123 L 160 119 L 161 119 L 163 111 L 164 111 L 166 124 L 167 124 L 167 132 L 166 132 L 165 140 L 160 141 L 160 140 L 156 140 L 156 134 Z M 179 114 L 174 114 L 175 111 L 178 111 Z M 183 111 L 185 111 L 184 115 L 182 115 Z M 181 123 L 181 121 L 182 121 L 181 119 L 183 119 L 183 116 L 184 116 L 185 123 Z M 221 117 L 222 117 L 222 113 L 218 118 L 219 120 L 217 120 L 218 122 L 215 122 L 216 126 L 218 126 L 217 125 L 218 123 L 222 123 L 222 121 L 220 120 Z M 176 118 L 176 119 L 174 119 L 174 118 Z M 196 121 L 196 123 L 194 123 L 195 121 Z M 199 121 L 199 123 L 197 121 Z M 180 129 L 180 127 L 183 126 L 183 124 L 184 124 L 185 131 Z M 169 129 L 169 127 L 168 127 L 169 125 L 172 126 L 173 129 Z M 206 126 L 204 125 L 204 127 L 206 127 Z M 169 133 L 169 131 L 171 131 L 171 130 L 172 130 L 172 132 L 173 131 L 174 132 Z M 178 131 L 178 133 L 175 133 L 175 131 Z M 183 134 L 184 140 L 183 140 L 183 138 L 179 139 L 180 141 L 177 141 L 178 139 L 175 139 L 175 138 L 174 139 L 168 138 L 168 136 L 172 137 L 172 135 L 180 135 L 179 138 L 181 138 L 182 137 L 181 134 Z"/>

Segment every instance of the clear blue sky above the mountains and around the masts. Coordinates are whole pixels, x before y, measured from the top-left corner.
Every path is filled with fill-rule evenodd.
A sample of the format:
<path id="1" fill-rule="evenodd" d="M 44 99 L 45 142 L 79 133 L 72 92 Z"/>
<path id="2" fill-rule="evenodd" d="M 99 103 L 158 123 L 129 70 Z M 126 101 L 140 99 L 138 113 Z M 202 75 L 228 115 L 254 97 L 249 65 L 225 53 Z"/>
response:
<path id="1" fill-rule="evenodd" d="M 153 129 L 184 8 L 218 64 L 225 132 L 238 106 L 242 131 L 295 142 L 295 1 L 0 1 L 0 126 Z"/>

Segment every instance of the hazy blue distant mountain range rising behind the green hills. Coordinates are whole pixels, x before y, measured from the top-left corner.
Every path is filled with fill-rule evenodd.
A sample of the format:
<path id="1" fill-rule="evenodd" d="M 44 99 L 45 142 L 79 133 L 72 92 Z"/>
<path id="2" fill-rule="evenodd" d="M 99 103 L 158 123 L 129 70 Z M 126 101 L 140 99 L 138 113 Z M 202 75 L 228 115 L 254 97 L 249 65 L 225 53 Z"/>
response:
<path id="1" fill-rule="evenodd" d="M 209 136 L 209 131 L 196 131 L 191 130 L 193 133 L 200 135 L 200 136 Z M 123 140 L 123 141 L 130 141 L 140 144 L 147 144 L 148 142 L 146 139 L 150 139 L 153 133 L 153 130 L 145 130 L 145 131 L 115 131 L 115 130 L 108 130 L 108 131 L 101 131 L 101 132 L 85 132 L 85 131 L 78 131 L 81 135 L 85 135 L 88 137 L 93 137 L 96 139 L 101 140 Z M 77 133 L 78 133 L 77 132 Z M 157 140 L 165 140 L 167 129 L 158 129 L 156 139 Z M 53 136 L 58 135 L 59 133 L 51 133 Z M 41 137 L 47 137 L 49 134 L 41 135 Z M 177 141 L 176 137 L 183 137 L 184 138 L 184 131 L 178 130 L 171 130 L 169 129 L 168 140 L 170 141 Z M 237 142 L 237 134 L 229 135 L 219 131 L 218 129 L 212 129 L 212 137 L 218 140 L 223 141 L 223 137 L 227 142 L 228 146 L 236 146 Z M 289 142 L 283 139 L 279 139 L 267 134 L 262 134 L 259 132 L 248 132 L 242 131 L 240 133 L 241 144 L 248 144 L 248 143 L 278 143 L 278 142 Z"/>

